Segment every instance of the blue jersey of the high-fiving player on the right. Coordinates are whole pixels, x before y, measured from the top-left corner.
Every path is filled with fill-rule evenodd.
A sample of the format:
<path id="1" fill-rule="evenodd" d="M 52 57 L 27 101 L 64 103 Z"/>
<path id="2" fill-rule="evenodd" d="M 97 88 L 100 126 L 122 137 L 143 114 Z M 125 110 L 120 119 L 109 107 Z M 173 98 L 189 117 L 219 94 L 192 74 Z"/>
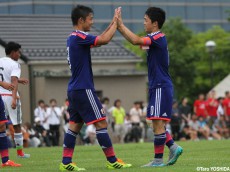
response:
<path id="1" fill-rule="evenodd" d="M 151 39 L 151 45 L 147 50 L 149 88 L 172 87 L 169 75 L 169 54 L 165 35 L 155 32 L 146 37 Z"/>

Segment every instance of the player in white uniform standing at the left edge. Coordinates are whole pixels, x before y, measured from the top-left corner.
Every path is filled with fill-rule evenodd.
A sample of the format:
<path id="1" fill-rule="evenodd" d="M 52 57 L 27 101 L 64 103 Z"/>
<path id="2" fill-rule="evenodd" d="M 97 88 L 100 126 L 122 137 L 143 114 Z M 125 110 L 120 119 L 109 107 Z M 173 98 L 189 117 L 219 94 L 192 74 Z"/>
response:
<path id="1" fill-rule="evenodd" d="M 21 45 L 15 42 L 9 42 L 5 47 L 6 57 L 0 58 L 0 79 L 11 83 L 15 86 L 14 90 L 7 90 L 0 87 L 0 94 L 5 104 L 6 114 L 14 126 L 14 141 L 17 149 L 17 155 L 20 158 L 29 158 L 29 154 L 25 154 L 23 148 L 23 135 L 21 131 L 22 111 L 21 102 L 18 94 L 18 83 L 28 84 L 29 81 L 21 76 L 21 67 L 18 59 L 21 56 Z"/>

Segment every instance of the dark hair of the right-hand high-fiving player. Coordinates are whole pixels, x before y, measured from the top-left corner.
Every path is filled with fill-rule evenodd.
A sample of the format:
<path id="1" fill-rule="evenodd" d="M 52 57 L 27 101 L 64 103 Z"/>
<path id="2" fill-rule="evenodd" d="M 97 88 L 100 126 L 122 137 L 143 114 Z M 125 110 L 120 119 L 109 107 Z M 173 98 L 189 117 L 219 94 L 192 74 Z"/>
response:
<path id="1" fill-rule="evenodd" d="M 145 14 L 153 22 L 157 21 L 159 29 L 162 28 L 165 22 L 165 11 L 158 7 L 149 7 Z"/>

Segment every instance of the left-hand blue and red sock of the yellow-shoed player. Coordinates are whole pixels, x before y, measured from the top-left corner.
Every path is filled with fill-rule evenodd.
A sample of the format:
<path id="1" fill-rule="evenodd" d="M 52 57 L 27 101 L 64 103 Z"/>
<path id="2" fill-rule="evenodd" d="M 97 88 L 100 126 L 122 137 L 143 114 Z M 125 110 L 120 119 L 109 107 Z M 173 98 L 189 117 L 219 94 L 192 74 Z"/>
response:
<path id="1" fill-rule="evenodd" d="M 72 163 L 72 157 L 73 157 L 77 135 L 78 133 L 73 132 L 70 129 L 68 129 L 68 131 L 65 134 L 64 144 L 63 144 L 63 157 L 62 157 L 62 163 L 65 165 Z"/>

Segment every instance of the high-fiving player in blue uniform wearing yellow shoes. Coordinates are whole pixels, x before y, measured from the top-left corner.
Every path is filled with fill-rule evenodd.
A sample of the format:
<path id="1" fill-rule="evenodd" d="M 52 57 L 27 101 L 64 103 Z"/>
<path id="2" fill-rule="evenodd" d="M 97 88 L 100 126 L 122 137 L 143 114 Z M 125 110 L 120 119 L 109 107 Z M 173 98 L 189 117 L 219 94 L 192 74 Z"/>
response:
<path id="1" fill-rule="evenodd" d="M 93 24 L 93 10 L 91 8 L 78 5 L 72 10 L 71 18 L 74 31 L 67 39 L 68 63 L 72 73 L 68 84 L 70 126 L 64 138 L 63 159 L 59 167 L 62 171 L 85 170 L 72 163 L 75 140 L 83 123 L 87 125 L 94 124 L 97 140 L 107 158 L 107 168 L 120 169 L 131 167 L 131 164 L 126 164 L 115 156 L 107 132 L 104 110 L 94 89 L 90 54 L 92 46 L 107 44 L 112 39 L 117 30 L 119 10 L 115 10 L 111 24 L 99 36 L 87 33 Z"/>

